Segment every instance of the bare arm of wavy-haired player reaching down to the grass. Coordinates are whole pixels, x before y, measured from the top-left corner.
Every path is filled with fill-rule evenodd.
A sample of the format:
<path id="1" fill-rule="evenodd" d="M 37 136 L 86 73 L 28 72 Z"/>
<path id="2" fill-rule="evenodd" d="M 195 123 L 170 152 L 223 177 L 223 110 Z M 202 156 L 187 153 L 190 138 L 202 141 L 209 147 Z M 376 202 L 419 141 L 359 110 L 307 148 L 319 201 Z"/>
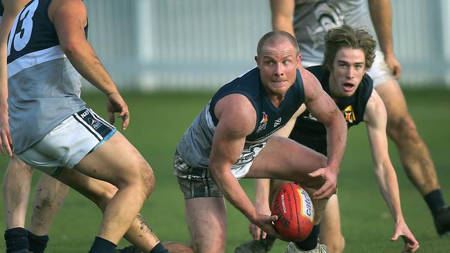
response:
<path id="1" fill-rule="evenodd" d="M 413 233 L 406 225 L 400 205 L 399 187 L 395 169 L 390 162 L 388 153 L 388 138 L 386 136 L 386 108 L 377 91 L 373 90 L 372 95 L 364 111 L 364 121 L 367 125 L 370 150 L 374 162 L 375 176 L 381 194 L 386 201 L 390 213 L 395 221 L 394 236 L 391 240 L 396 241 L 398 236 L 402 236 L 405 241 L 405 249 L 413 252 L 419 247 Z"/>

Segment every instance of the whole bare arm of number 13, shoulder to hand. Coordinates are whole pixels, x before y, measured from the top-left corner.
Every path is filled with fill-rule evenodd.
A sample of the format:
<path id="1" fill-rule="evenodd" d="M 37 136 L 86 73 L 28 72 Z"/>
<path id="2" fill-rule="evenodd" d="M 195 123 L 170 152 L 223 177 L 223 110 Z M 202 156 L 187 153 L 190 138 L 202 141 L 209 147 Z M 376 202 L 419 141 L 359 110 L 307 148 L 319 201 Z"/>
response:
<path id="1" fill-rule="evenodd" d="M 84 27 L 87 25 L 84 3 L 80 0 L 52 1 L 48 17 L 55 24 L 62 50 L 75 69 L 107 95 L 109 121 L 114 123 L 114 113 L 118 113 L 123 118 L 122 128 L 126 129 L 129 124 L 128 106 L 84 34 Z"/>

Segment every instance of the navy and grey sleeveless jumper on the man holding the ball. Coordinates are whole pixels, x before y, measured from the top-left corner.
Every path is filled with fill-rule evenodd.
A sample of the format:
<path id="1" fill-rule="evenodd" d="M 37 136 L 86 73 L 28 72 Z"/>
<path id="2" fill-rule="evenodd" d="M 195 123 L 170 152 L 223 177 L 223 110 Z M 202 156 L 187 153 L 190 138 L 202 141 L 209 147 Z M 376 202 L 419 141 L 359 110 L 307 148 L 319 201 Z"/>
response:
<path id="1" fill-rule="evenodd" d="M 242 94 L 250 100 L 255 108 L 257 120 L 255 129 L 246 137 L 244 150 L 239 160 L 231 168 L 232 171 L 235 167 L 241 167 L 253 161 L 265 146 L 267 139 L 278 129 L 285 126 L 292 115 L 305 102 L 300 71 L 297 70 L 296 81 L 287 91 L 285 100 L 279 108 L 276 108 L 269 100 L 261 82 L 259 68 L 251 69 L 222 86 L 184 133 L 177 145 L 177 153 L 191 167 L 208 169 L 213 135 L 218 123 L 214 113 L 215 105 L 222 97 L 233 93 Z"/>

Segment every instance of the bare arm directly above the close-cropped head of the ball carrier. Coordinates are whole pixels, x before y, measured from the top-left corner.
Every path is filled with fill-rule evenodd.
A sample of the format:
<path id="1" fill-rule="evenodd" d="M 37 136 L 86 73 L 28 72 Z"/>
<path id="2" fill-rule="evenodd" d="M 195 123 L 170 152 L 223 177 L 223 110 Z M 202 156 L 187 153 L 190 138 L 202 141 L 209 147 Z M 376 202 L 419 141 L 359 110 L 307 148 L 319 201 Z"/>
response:
<path id="1" fill-rule="evenodd" d="M 295 37 L 292 26 L 292 15 L 294 15 L 294 0 L 270 0 L 272 11 L 273 30 L 284 30 Z"/>

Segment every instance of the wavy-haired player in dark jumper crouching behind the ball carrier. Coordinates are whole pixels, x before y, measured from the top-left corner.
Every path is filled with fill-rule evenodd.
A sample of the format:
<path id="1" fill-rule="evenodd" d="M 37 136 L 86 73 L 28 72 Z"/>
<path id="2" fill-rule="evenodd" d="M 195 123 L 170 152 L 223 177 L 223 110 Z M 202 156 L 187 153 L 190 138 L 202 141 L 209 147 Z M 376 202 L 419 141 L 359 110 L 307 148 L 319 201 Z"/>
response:
<path id="1" fill-rule="evenodd" d="M 391 240 L 396 241 L 399 236 L 402 236 L 405 242 L 404 252 L 413 252 L 417 250 L 419 244 L 402 215 L 397 176 L 388 153 L 386 109 L 377 91 L 373 89 L 372 79 L 366 74 L 374 61 L 376 44 L 366 30 L 355 30 L 347 25 L 332 28 L 325 35 L 323 64 L 311 66 L 307 70 L 318 78 L 324 91 L 330 94 L 339 106 L 348 127 L 366 122 L 375 176 L 377 176 L 381 194 L 395 221 L 394 235 Z M 323 124 L 318 122 L 309 111 L 304 111 L 298 118 L 291 120 L 279 133 L 327 155 L 327 139 Z M 272 180 L 271 196 L 282 183 L 280 180 Z M 257 208 L 270 213 L 269 180 L 258 180 L 256 187 L 255 203 L 258 205 Z M 330 200 L 333 198 L 337 198 L 337 195 L 332 196 Z M 330 252 L 342 252 L 344 241 L 341 236 L 339 209 L 326 207 L 325 210 L 321 227 L 314 226 L 312 233 L 320 232 L 321 243 L 327 245 Z M 261 230 L 254 225 L 251 225 L 250 229 L 256 241 L 240 245 L 235 252 L 268 252 L 274 238 L 268 236 L 265 240 L 260 241 Z M 291 243 L 287 252 L 298 252 L 296 247 L 302 245 L 306 250 L 312 250 L 316 246 L 316 242 L 305 240 L 298 245 Z"/>

